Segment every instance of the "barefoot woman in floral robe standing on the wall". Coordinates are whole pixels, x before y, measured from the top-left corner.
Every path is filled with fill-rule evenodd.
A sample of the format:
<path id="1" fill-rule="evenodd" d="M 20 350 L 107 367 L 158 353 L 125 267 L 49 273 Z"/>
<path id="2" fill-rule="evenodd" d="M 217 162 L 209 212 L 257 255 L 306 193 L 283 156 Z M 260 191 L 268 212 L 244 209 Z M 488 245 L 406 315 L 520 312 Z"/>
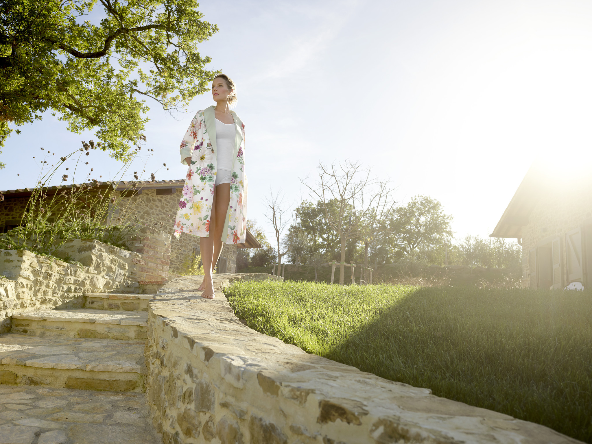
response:
<path id="1" fill-rule="evenodd" d="M 244 243 L 247 232 L 247 176 L 244 125 L 229 106 L 236 102 L 234 82 L 220 74 L 212 83 L 215 106 L 200 110 L 181 142 L 181 163 L 189 170 L 175 220 L 181 232 L 200 236 L 204 281 L 201 297 L 213 299 L 212 272 L 224 242 Z"/>

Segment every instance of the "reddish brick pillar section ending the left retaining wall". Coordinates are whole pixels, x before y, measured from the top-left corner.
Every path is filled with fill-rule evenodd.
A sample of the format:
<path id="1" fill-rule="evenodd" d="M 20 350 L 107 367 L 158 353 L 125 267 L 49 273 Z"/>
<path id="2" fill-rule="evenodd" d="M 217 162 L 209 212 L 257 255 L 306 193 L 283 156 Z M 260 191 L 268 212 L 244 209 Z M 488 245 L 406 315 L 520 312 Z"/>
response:
<path id="1" fill-rule="evenodd" d="M 141 255 L 137 261 L 136 278 L 140 285 L 163 284 L 169 279 L 170 234 L 144 227 L 128 242 L 128 247 Z"/>

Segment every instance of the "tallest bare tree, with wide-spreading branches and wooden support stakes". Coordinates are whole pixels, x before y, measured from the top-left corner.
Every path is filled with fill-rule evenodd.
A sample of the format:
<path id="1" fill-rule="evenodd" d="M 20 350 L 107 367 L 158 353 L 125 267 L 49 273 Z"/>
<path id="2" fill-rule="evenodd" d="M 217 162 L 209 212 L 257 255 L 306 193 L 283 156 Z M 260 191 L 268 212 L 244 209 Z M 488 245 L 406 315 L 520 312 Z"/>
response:
<path id="1" fill-rule="evenodd" d="M 362 190 L 374 184 L 370 170 L 360 171 L 360 163 L 345 160 L 343 164 L 329 166 L 318 164 L 318 180 L 314 185 L 306 183 L 308 177 L 300 179 L 310 190 L 310 195 L 320 202 L 330 228 L 337 233 L 341 243 L 339 284 L 345 276 L 345 247 L 348 239 L 359 237 L 358 226 L 365 213 L 356 211 L 356 201 Z M 356 180 L 362 175 L 361 180 Z M 348 223 L 349 218 L 349 223 Z"/>

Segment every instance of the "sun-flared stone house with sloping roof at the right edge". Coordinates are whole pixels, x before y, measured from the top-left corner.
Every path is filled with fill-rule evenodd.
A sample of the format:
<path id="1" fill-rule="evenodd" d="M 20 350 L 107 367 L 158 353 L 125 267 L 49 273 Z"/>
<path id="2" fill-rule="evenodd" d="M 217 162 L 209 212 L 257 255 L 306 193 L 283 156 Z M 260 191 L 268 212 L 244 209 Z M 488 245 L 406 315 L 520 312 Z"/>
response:
<path id="1" fill-rule="evenodd" d="M 522 245 L 523 287 L 592 287 L 592 176 L 533 165 L 490 236 Z"/>

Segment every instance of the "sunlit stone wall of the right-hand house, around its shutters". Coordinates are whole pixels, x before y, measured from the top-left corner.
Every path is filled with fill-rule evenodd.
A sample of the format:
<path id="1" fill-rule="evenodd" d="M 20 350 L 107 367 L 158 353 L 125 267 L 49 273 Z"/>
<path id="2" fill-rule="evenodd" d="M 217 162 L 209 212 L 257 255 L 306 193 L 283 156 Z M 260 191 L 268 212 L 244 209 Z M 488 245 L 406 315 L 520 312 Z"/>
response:
<path id="1" fill-rule="evenodd" d="M 529 215 L 529 223 L 522 227 L 522 284 L 530 288 L 530 250 L 542 242 L 559 237 L 561 251 L 561 282 L 569 284 L 565 235 L 592 218 L 592 183 L 545 192 Z M 588 255 L 592 256 L 592 252 Z M 592 260 L 592 257 L 590 258 Z"/>

